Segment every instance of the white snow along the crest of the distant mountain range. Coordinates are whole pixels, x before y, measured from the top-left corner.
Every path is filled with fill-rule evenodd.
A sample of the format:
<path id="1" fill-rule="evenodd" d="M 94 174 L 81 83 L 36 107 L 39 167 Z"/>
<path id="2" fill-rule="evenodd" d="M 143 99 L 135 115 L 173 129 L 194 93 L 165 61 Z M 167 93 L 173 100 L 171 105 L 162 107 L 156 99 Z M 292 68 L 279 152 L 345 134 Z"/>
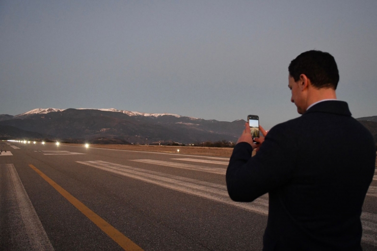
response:
<path id="1" fill-rule="evenodd" d="M 53 112 L 56 112 L 56 111 L 63 111 L 63 110 L 66 110 L 66 109 L 36 108 L 36 109 L 30 110 L 30 111 L 26 111 L 26 113 L 16 115 L 13 118 L 15 118 L 15 119 L 22 119 L 22 118 L 29 117 L 30 115 L 48 114 L 48 113 L 53 113 Z M 118 109 L 115 109 L 115 108 L 100 108 L 100 109 L 95 109 L 95 108 L 77 108 L 77 110 L 114 111 L 116 113 L 123 113 L 123 114 L 126 114 L 128 116 L 144 116 L 144 117 L 155 117 L 155 118 L 158 118 L 158 117 L 161 117 L 161 116 L 166 116 L 166 115 L 167 116 L 174 116 L 176 118 L 181 118 L 182 117 L 182 116 L 177 115 L 177 114 L 168 114 L 168 113 L 165 113 L 165 114 L 149 114 L 149 113 L 139 113 L 139 111 L 118 110 Z M 197 120 L 198 119 L 198 118 L 192 118 L 192 117 L 189 117 L 189 118 L 192 119 L 192 120 Z"/>

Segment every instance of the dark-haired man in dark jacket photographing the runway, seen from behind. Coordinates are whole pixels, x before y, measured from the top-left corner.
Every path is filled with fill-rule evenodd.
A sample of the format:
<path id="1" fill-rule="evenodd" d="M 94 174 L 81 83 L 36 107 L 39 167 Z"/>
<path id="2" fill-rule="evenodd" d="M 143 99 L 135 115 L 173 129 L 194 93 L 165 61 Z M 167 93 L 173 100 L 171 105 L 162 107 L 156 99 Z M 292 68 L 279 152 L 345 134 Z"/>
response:
<path id="1" fill-rule="evenodd" d="M 306 51 L 288 67 L 301 117 L 253 143 L 248 124 L 226 174 L 232 200 L 269 194 L 263 250 L 361 250 L 361 208 L 374 175 L 370 132 L 336 100 L 339 74 L 327 52 Z M 253 149 L 257 154 L 251 157 Z"/>

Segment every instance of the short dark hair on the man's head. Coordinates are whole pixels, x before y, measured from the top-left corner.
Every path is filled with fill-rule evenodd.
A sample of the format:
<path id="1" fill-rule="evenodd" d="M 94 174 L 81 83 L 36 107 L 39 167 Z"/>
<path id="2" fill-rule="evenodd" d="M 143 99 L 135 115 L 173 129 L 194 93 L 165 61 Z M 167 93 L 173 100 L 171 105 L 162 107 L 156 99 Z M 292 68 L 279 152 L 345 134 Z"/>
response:
<path id="1" fill-rule="evenodd" d="M 328 52 L 309 50 L 292 60 L 288 67 L 289 75 L 294 81 L 305 74 L 315 88 L 333 88 L 339 82 L 339 71 L 334 57 Z"/>

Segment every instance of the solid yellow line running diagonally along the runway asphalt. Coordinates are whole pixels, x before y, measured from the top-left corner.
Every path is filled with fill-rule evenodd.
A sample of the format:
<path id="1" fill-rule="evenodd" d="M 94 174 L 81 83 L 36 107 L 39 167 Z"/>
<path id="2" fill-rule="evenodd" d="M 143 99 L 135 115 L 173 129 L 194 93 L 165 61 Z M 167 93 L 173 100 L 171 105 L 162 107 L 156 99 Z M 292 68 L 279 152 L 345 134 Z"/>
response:
<path id="1" fill-rule="evenodd" d="M 121 232 L 116 230 L 113 226 L 102 219 L 98 214 L 90 210 L 82 202 L 74 198 L 69 192 L 64 190 L 55 181 L 48 178 L 44 173 L 37 169 L 34 165 L 29 165 L 37 174 L 39 174 L 45 181 L 47 181 L 53 188 L 55 188 L 64 198 L 66 198 L 73 206 L 75 206 L 80 212 L 87 216 L 95 225 L 98 226 L 103 232 L 109 235 L 116 243 L 118 243 L 124 250 L 129 251 L 142 251 L 143 249 L 137 244 L 133 243 L 130 239 L 124 236 Z"/>

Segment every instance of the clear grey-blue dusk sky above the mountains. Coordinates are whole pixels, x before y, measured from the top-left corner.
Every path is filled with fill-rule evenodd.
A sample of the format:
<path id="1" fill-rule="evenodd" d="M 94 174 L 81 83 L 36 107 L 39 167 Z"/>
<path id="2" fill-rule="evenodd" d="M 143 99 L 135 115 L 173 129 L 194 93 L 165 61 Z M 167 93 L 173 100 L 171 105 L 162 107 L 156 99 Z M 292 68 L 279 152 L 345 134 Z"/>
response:
<path id="1" fill-rule="evenodd" d="M 297 118 L 288 65 L 331 53 L 339 100 L 377 115 L 377 1 L 0 1 L 0 114 L 116 108 Z"/>

